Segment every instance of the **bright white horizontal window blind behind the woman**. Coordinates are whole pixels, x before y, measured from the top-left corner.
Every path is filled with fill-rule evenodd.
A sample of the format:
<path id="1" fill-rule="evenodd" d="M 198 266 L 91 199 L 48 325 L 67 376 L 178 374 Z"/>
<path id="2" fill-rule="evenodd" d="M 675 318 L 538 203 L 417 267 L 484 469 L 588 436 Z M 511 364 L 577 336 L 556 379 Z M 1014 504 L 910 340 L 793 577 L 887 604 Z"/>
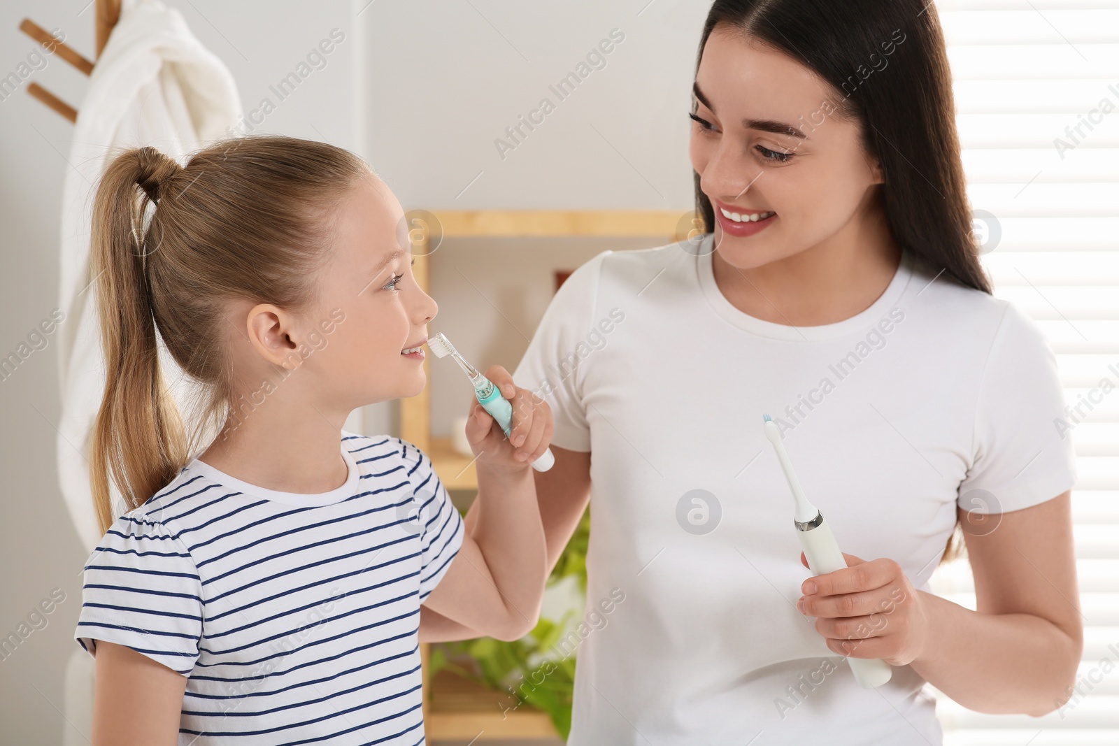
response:
<path id="1" fill-rule="evenodd" d="M 1119 744 L 1119 0 L 938 0 L 982 263 L 1057 358 L 1071 437 L 1084 652 L 1043 717 L 937 692 L 949 746 Z M 993 216 L 993 217 L 989 217 Z M 1104 390 L 1108 379 L 1113 388 Z M 1090 407 L 1088 405 L 1091 405 Z M 1028 403 L 1023 403 L 1028 406 Z M 1055 497 L 1055 495 L 1054 495 Z M 932 588 L 975 608 L 967 560 Z"/>

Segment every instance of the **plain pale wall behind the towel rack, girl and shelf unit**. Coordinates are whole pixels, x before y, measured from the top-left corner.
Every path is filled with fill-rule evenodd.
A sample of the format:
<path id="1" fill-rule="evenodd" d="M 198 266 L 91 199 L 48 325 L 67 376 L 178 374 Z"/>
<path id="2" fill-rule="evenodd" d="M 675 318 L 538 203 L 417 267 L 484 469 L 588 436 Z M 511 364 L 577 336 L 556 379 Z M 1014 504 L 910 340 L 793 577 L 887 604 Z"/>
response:
<path id="1" fill-rule="evenodd" d="M 506 0 L 168 0 L 233 70 L 246 112 L 273 97 L 257 132 L 320 139 L 365 155 L 407 208 L 648 208 L 692 204 L 687 162 L 688 91 L 705 2 L 647 0 L 516 3 Z M 31 4 L 0 0 L 0 77 L 35 45 L 17 30 L 30 16 L 60 28 L 92 56 L 86 0 Z M 269 86 L 331 29 L 346 39 L 290 97 Z M 612 29 L 624 34 L 565 100 L 548 86 L 576 70 Z M 36 81 L 79 106 L 86 79 L 57 58 Z M 555 110 L 502 159 L 493 141 L 543 97 Z M 58 205 L 69 168 L 72 125 L 23 91 L 0 101 L 0 355 L 56 305 Z M 631 245 L 631 244 L 626 244 Z M 552 248 L 556 253 L 552 253 Z M 526 343 L 489 299 L 514 303 L 526 329 L 551 295 L 551 268 L 571 268 L 620 244 L 516 242 L 451 244 L 433 257 L 433 292 L 448 333 L 479 365 L 510 369 Z M 547 254 L 545 254 L 547 252 Z M 544 257 L 547 258 L 544 258 Z M 479 292 L 461 281 L 469 268 Z M 469 292 L 468 292 L 469 291 Z M 458 318 L 458 325 L 451 321 Z M 470 323 L 462 323 L 469 319 Z M 509 340 L 513 340 L 511 342 Z M 48 337 L 49 340 L 49 337 Z M 59 413 L 50 342 L 0 381 L 0 636 L 27 621 L 54 588 L 65 599 L 12 655 L 0 660 L 0 744 L 57 744 L 63 667 L 76 648 L 85 550 L 55 476 Z M 434 366 L 433 366 L 434 368 Z M 444 380 L 446 385 L 442 385 Z M 464 412 L 469 390 L 433 372 L 436 432 Z M 460 383 L 460 381 L 454 381 Z M 395 432 L 394 408 L 367 410 L 366 432 Z M 57 597 L 57 594 L 56 594 Z"/>

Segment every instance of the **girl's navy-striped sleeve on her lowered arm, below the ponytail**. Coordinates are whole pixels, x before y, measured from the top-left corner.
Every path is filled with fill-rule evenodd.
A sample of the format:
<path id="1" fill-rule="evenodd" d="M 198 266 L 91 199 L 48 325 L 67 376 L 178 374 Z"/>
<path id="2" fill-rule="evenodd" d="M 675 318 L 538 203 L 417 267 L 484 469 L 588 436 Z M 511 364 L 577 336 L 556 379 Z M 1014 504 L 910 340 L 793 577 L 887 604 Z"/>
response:
<path id="1" fill-rule="evenodd" d="M 188 676 L 203 634 L 203 589 L 186 545 L 142 509 L 117 518 L 85 563 L 74 638 L 125 645 Z"/>

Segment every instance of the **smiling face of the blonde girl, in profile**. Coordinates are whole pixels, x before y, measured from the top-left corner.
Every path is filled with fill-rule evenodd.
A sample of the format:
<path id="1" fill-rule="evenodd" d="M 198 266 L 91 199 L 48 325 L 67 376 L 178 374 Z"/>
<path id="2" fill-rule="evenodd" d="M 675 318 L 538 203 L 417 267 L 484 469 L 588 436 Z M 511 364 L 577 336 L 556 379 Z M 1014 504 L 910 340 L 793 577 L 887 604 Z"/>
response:
<path id="1" fill-rule="evenodd" d="M 350 408 L 415 396 L 426 383 L 425 350 L 405 350 L 426 341 L 439 306 L 412 276 L 403 225 L 388 187 L 372 176 L 359 179 L 338 208 L 333 254 L 319 275 L 318 317 L 303 319 L 323 338 L 304 365 Z"/>

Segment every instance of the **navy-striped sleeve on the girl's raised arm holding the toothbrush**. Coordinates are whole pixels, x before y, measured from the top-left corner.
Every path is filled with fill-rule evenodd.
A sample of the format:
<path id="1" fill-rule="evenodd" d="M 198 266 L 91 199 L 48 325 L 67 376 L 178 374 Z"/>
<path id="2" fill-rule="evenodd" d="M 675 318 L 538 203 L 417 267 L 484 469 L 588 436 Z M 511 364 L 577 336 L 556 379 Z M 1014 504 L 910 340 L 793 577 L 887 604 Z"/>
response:
<path id="1" fill-rule="evenodd" d="M 446 575 L 451 560 L 459 554 L 466 523 L 459 509 L 451 502 L 427 454 L 407 441 L 402 443 L 404 460 L 415 462 L 408 468 L 408 481 L 412 483 L 420 520 L 420 603 L 423 603 Z"/>

